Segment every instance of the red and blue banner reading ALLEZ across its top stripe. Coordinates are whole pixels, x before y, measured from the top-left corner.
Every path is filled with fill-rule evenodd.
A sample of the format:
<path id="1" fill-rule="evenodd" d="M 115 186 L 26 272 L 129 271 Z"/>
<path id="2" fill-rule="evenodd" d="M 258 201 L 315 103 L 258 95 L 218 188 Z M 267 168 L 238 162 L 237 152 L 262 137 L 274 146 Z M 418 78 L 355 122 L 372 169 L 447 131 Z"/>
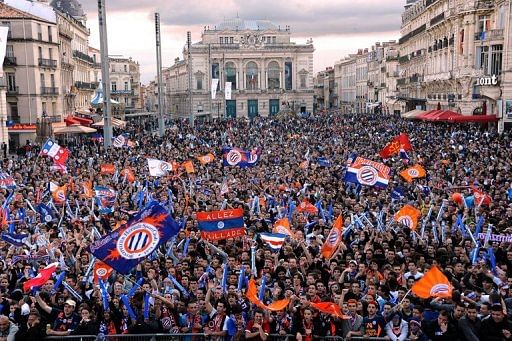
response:
<path id="1" fill-rule="evenodd" d="M 197 212 L 201 237 L 221 240 L 245 235 L 244 210 L 242 208 L 211 212 Z"/>

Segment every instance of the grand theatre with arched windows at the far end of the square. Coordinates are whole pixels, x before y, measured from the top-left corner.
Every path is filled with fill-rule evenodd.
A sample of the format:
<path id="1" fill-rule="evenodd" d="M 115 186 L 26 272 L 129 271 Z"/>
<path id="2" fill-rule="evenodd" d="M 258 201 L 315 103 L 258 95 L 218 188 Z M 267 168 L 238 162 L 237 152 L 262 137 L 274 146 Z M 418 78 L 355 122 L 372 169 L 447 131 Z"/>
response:
<path id="1" fill-rule="evenodd" d="M 163 72 L 166 112 L 197 117 L 271 116 L 290 108 L 312 112 L 314 97 L 313 42 L 291 41 L 289 26 L 267 20 L 225 20 L 205 27 L 201 41 L 187 46 L 183 59 Z M 189 66 L 191 79 L 189 80 Z M 212 79 L 218 79 L 215 99 Z M 231 83 L 231 98 L 226 83 Z"/>

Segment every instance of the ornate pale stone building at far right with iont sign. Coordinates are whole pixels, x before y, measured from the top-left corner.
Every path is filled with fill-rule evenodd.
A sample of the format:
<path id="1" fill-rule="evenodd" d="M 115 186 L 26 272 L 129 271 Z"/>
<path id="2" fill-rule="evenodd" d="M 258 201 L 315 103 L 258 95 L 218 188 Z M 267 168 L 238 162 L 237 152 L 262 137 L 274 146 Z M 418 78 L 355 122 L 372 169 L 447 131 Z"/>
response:
<path id="1" fill-rule="evenodd" d="M 423 0 L 406 7 L 397 82 L 407 109 L 491 114 L 500 129 L 511 125 L 511 16 L 510 0 Z"/>

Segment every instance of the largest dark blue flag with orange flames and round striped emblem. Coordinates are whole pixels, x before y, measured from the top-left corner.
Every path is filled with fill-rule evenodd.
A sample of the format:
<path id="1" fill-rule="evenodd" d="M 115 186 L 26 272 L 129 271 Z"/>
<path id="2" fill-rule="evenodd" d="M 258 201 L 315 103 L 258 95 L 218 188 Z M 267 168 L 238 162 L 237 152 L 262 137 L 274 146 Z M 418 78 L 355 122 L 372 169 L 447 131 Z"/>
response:
<path id="1" fill-rule="evenodd" d="M 179 230 L 169 212 L 151 202 L 125 225 L 94 241 L 89 251 L 117 272 L 127 274 Z"/>

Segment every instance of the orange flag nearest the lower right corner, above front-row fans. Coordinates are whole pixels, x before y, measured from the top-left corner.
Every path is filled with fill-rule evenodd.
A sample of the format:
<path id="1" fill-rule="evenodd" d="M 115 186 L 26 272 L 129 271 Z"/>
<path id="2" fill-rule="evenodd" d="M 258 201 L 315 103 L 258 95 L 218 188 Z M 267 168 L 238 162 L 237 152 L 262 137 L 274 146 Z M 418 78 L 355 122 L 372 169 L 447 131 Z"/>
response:
<path id="1" fill-rule="evenodd" d="M 424 299 L 430 297 L 451 298 L 452 290 L 450 281 L 436 265 L 433 265 L 411 288 L 416 296 Z"/>

